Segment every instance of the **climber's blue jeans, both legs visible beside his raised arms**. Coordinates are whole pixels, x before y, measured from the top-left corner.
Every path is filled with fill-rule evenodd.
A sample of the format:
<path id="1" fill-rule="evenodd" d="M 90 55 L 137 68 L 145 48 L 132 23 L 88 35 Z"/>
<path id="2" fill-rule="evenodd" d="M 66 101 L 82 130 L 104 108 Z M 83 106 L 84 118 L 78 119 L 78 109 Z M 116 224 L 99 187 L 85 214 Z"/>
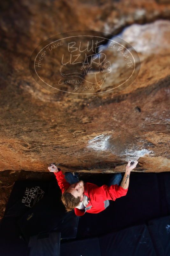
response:
<path id="1" fill-rule="evenodd" d="M 71 172 L 65 173 L 66 181 L 70 184 L 74 184 L 79 181 L 78 173 L 74 173 L 74 175 Z M 108 182 L 108 186 L 111 185 L 119 185 L 120 181 L 122 179 L 121 173 L 114 173 L 111 179 Z"/>

